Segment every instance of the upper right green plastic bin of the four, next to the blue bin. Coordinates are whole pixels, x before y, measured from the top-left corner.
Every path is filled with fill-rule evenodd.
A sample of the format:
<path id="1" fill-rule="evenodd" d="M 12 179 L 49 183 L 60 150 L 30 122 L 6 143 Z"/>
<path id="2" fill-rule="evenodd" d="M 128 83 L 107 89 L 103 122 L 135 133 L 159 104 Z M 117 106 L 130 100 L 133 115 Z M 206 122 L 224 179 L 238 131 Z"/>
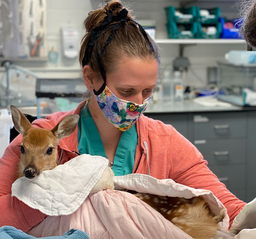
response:
<path id="1" fill-rule="evenodd" d="M 217 24 L 220 19 L 220 8 L 216 7 L 213 9 L 207 9 L 210 13 L 209 16 L 201 16 L 200 15 L 200 8 L 195 7 L 196 17 L 195 21 L 200 22 L 201 24 Z"/>

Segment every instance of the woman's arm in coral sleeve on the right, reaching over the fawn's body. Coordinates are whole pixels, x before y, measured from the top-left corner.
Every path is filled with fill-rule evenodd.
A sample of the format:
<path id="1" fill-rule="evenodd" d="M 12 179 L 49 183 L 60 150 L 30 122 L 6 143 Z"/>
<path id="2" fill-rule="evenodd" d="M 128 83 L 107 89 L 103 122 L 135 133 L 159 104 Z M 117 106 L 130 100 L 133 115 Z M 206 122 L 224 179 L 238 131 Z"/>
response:
<path id="1" fill-rule="evenodd" d="M 230 227 L 246 203 L 228 191 L 207 167 L 207 161 L 196 147 L 175 129 L 172 129 L 171 148 L 172 179 L 189 187 L 211 190 L 226 207 Z"/>

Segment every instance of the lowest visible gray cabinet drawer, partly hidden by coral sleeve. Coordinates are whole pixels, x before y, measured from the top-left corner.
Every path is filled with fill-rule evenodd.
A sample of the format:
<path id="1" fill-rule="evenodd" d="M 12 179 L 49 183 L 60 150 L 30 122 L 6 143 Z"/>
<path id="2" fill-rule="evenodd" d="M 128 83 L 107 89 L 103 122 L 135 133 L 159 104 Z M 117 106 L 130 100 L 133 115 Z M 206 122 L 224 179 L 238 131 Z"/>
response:
<path id="1" fill-rule="evenodd" d="M 209 166 L 228 190 L 245 189 L 245 165 Z"/>

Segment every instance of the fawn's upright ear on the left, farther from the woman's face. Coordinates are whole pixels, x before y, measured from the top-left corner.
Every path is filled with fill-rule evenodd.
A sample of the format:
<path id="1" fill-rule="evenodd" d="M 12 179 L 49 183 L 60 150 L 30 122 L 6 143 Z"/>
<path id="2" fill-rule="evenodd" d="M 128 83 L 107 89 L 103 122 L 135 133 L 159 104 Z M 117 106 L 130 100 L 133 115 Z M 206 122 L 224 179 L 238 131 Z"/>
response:
<path id="1" fill-rule="evenodd" d="M 12 121 L 13 121 L 14 127 L 23 136 L 26 131 L 32 128 L 32 125 L 28 121 L 26 116 L 24 116 L 20 112 L 20 110 L 18 110 L 13 105 L 11 105 L 11 112 L 12 112 Z"/>

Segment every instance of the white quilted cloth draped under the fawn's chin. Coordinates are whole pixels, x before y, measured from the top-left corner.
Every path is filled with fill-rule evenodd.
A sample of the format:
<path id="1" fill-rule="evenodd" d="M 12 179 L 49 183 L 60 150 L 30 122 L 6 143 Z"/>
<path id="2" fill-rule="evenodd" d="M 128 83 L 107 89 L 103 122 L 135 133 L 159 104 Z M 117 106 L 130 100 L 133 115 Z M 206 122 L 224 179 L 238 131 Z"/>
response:
<path id="1" fill-rule="evenodd" d="M 43 171 L 35 180 L 17 179 L 12 196 L 49 216 L 69 215 L 84 202 L 107 167 L 104 157 L 79 155 Z"/>

